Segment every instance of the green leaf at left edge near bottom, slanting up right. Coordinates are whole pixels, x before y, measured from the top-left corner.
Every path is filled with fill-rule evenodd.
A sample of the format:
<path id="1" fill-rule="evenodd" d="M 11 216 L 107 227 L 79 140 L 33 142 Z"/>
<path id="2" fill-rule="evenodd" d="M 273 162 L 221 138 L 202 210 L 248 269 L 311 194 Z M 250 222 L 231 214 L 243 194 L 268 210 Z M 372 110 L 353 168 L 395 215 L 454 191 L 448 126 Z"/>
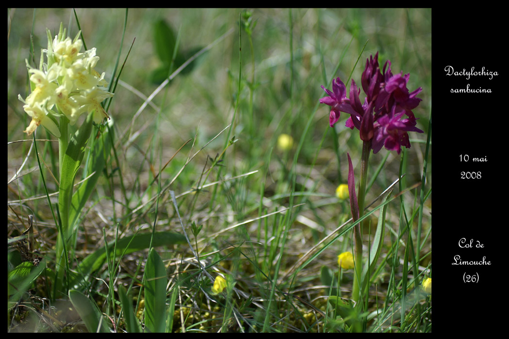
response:
<path id="1" fill-rule="evenodd" d="M 43 259 L 39 265 L 34 266 L 30 261 L 25 261 L 16 266 L 7 274 L 8 307 L 17 302 L 26 292 L 38 276 L 44 271 L 46 261 Z"/>

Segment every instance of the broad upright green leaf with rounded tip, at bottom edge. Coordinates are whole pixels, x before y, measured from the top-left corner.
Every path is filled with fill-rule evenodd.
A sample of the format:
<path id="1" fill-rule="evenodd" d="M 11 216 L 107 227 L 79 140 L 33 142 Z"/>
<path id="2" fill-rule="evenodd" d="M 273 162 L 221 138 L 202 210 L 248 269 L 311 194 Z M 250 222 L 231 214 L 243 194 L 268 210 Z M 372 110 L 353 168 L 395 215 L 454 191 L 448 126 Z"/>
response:
<path id="1" fill-rule="evenodd" d="M 164 332 L 166 328 L 166 284 L 168 277 L 161 257 L 154 249 L 149 252 L 145 265 L 145 329 L 148 332 Z"/>

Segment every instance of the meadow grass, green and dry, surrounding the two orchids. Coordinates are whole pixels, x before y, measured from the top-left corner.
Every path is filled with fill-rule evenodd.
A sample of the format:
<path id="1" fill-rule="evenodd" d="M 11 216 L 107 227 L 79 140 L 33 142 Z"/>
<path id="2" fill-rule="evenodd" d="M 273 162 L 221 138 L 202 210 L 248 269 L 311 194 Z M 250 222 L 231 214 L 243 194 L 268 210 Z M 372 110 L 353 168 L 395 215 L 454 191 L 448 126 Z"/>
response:
<path id="1" fill-rule="evenodd" d="M 431 331 L 431 295 L 419 287 L 432 270 L 431 10 L 250 11 L 244 24 L 242 9 L 134 9 L 124 33 L 125 10 L 76 10 L 108 82 L 127 61 L 108 104 L 112 148 L 70 249 L 73 298 L 117 332 Z M 158 50 L 161 19 L 174 40 Z M 43 183 L 31 137 L 22 132 L 30 117 L 17 98 L 30 93 L 24 59 L 39 65 L 45 29 L 54 35 L 60 22 L 76 35 L 72 10 L 8 10 L 8 180 L 15 177 L 8 238 L 20 236 L 34 215 L 33 248 L 46 265 L 9 305 L 13 332 L 97 329 L 80 306 L 67 311 L 67 293 L 53 291 L 58 230 L 45 189 L 54 208 L 58 142 L 37 129 Z M 158 74 L 164 79 L 205 47 L 158 89 Z M 414 114 L 425 133 L 410 133 L 412 147 L 400 156 L 383 148 L 370 157 L 366 205 L 405 176 L 385 205 L 380 199 L 366 212 L 364 260 L 383 209 L 385 234 L 362 311 L 348 310 L 331 296 L 339 290 L 350 298 L 354 274 L 343 270 L 337 279 L 337 255 L 352 251 L 353 225 L 329 235 L 351 217 L 335 189 L 346 183 L 347 151 L 358 183 L 362 142 L 345 127 L 346 113 L 329 127 L 320 85 L 331 89 L 337 76 L 359 84 L 365 59 L 377 51 L 381 66 L 390 59 L 394 74 L 410 73 L 410 90 L 422 86 Z M 173 60 L 165 67 L 163 54 Z M 294 139 L 288 151 L 276 146 L 282 133 Z M 76 182 L 90 174 L 78 172 Z M 184 231 L 187 239 L 178 241 L 138 237 Z M 136 250 L 122 238 L 139 241 Z M 17 253 L 9 250 L 13 266 Z M 230 284 L 213 295 L 218 274 Z"/>

